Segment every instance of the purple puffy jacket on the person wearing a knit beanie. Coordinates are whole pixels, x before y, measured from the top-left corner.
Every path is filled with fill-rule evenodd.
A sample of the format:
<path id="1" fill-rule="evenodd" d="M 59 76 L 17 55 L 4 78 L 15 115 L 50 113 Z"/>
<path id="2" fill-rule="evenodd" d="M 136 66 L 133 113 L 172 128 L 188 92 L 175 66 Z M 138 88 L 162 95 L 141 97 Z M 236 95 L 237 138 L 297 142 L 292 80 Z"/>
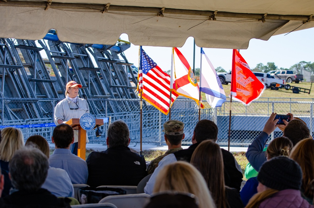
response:
<path id="1" fill-rule="evenodd" d="M 301 192 L 295 189 L 285 189 L 279 191 L 270 198 L 264 200 L 259 208 L 313 208 L 305 199 L 301 197 Z"/>

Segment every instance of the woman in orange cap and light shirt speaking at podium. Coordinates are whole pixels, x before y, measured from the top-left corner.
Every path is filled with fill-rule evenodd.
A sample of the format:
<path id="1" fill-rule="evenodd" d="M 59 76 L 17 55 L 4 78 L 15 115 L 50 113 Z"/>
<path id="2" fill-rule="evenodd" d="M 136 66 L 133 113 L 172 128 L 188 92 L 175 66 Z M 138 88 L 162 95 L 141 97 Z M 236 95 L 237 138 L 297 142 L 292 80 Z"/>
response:
<path id="1" fill-rule="evenodd" d="M 65 99 L 58 102 L 55 107 L 55 124 L 66 123 L 71 118 L 80 118 L 84 113 L 89 113 L 86 100 L 78 98 L 78 88 L 82 85 L 75 81 L 69 81 L 65 88 Z M 86 142 L 88 137 L 86 135 Z M 78 130 L 74 130 L 74 143 L 70 145 L 70 151 L 78 155 Z"/>

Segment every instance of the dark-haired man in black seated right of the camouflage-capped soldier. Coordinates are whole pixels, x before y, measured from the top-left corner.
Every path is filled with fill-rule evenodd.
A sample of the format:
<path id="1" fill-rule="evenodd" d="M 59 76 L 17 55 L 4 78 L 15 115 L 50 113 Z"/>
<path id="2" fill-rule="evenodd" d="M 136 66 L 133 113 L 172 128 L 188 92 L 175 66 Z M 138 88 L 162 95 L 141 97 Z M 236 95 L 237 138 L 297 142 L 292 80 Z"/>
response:
<path id="1" fill-rule="evenodd" d="M 151 194 L 154 189 L 154 184 L 156 181 L 156 177 L 159 171 L 167 164 L 170 164 L 174 161 L 191 161 L 192 154 L 196 147 L 205 140 L 213 140 L 216 142 L 218 135 L 218 127 L 217 125 L 207 119 L 200 120 L 194 129 L 193 136 L 192 136 L 192 145 L 185 149 L 179 150 L 175 153 L 171 153 L 165 156 L 160 162 L 158 167 L 155 169 L 152 176 L 149 178 L 147 182 L 144 192 L 146 194 Z M 232 153 L 221 149 L 222 157 L 224 160 L 224 176 L 225 176 L 225 185 L 231 188 L 235 188 L 240 191 L 241 183 L 242 183 L 242 170 L 237 163 L 236 159 L 232 155 Z"/>

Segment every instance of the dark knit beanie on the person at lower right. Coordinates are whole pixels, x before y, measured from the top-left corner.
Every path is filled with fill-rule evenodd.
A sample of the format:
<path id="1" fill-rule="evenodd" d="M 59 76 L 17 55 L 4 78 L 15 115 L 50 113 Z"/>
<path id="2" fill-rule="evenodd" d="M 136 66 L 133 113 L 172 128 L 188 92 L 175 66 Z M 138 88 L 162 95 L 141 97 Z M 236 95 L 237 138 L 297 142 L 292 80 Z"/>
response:
<path id="1" fill-rule="evenodd" d="M 285 156 L 274 157 L 263 163 L 257 180 L 271 189 L 297 189 L 302 184 L 302 171 L 295 161 Z"/>

